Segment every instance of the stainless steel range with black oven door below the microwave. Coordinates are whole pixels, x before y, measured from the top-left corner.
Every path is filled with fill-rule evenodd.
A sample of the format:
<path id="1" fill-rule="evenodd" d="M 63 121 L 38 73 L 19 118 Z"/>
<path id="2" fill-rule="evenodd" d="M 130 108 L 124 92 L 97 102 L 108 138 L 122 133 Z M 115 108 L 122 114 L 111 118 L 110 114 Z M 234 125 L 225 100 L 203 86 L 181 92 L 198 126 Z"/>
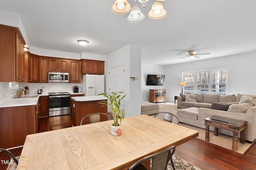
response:
<path id="1" fill-rule="evenodd" d="M 49 94 L 49 116 L 70 114 L 70 93 L 48 93 Z"/>

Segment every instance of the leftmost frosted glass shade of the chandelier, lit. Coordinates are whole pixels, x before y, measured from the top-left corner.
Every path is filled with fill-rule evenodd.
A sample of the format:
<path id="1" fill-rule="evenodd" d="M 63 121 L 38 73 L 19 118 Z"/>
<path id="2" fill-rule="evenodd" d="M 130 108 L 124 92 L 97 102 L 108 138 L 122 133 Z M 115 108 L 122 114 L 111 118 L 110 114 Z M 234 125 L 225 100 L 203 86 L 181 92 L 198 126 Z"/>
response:
<path id="1" fill-rule="evenodd" d="M 112 6 L 112 11 L 119 15 L 127 14 L 130 10 L 131 5 L 127 0 L 115 0 L 114 5 Z"/>

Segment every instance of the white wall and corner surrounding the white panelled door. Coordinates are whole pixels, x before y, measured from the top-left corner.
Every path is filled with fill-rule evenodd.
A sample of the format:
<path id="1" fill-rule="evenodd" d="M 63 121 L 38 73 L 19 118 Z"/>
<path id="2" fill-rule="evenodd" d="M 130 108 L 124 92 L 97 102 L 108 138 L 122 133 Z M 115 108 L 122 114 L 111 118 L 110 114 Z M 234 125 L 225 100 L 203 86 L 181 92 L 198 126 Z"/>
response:
<path id="1" fill-rule="evenodd" d="M 126 117 L 140 115 L 140 82 L 133 82 L 130 77 L 140 76 L 141 70 L 141 51 L 136 45 L 126 45 L 112 53 L 106 55 L 105 61 L 105 89 L 109 89 L 109 68 L 125 66 L 125 113 Z M 131 82 L 132 81 L 132 82 Z M 107 91 L 107 90 L 106 90 Z M 136 95 L 134 95 L 136 93 Z M 138 100 L 139 99 L 139 100 Z M 138 108 L 138 111 L 134 111 Z"/>

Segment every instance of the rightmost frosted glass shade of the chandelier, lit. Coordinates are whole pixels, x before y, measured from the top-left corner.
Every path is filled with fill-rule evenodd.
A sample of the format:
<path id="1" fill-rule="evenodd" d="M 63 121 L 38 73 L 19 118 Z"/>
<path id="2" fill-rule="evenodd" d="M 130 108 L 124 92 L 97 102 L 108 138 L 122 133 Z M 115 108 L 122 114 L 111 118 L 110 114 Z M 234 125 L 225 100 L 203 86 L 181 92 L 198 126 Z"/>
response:
<path id="1" fill-rule="evenodd" d="M 164 6 L 161 2 L 156 1 L 148 12 L 148 17 L 152 19 L 160 19 L 166 16 L 166 10 L 164 10 Z"/>

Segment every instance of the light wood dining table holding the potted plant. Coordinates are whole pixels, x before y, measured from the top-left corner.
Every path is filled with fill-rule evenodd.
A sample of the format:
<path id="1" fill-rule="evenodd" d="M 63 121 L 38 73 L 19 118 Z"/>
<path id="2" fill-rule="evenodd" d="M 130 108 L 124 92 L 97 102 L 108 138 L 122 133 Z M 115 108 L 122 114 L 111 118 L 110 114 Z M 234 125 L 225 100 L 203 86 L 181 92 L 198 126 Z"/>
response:
<path id="1" fill-rule="evenodd" d="M 198 131 L 148 115 L 28 135 L 18 170 L 127 170 L 140 158 L 198 137 Z"/>

